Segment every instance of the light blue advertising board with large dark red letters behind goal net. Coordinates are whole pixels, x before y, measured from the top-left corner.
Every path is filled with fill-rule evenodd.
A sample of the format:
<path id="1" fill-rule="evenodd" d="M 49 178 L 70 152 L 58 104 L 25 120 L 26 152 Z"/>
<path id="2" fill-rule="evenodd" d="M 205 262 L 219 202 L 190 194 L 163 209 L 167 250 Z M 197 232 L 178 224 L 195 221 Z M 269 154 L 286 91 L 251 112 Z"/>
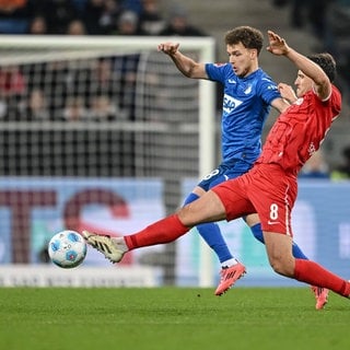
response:
<path id="1" fill-rule="evenodd" d="M 164 215 L 162 196 L 158 178 L 0 178 L 0 264 L 44 262 L 40 253 L 49 238 L 66 229 L 116 236 L 137 232 Z M 137 264 L 141 253 L 131 252 L 122 264 Z M 107 264 L 89 249 L 84 265 Z"/>

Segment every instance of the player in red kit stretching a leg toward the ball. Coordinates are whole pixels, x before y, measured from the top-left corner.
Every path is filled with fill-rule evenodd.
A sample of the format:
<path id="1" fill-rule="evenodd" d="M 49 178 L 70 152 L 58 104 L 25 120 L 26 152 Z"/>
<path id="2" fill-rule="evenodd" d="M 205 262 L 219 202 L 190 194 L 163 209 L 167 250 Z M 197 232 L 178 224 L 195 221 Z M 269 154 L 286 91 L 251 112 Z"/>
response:
<path id="1" fill-rule="evenodd" d="M 277 273 L 350 298 L 349 281 L 315 261 L 292 255 L 291 211 L 298 194 L 298 173 L 318 150 L 341 108 L 340 92 L 332 85 L 336 63 L 329 54 L 308 58 L 299 54 L 271 31 L 268 37 L 268 51 L 287 57 L 299 69 L 298 98 L 275 122 L 254 167 L 137 234 L 110 238 L 83 232 L 88 243 L 106 258 L 117 262 L 128 250 L 172 242 L 199 223 L 230 221 L 257 212 L 269 262 Z M 287 84 L 279 89 L 282 96 L 291 92 Z"/>

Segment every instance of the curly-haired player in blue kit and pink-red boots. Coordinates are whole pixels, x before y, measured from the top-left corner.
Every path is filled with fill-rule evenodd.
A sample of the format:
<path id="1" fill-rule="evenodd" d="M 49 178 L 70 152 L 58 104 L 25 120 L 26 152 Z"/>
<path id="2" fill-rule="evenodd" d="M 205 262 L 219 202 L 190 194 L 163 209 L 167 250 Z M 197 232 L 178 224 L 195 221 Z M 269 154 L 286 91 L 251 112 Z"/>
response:
<path id="1" fill-rule="evenodd" d="M 264 44 L 260 31 L 238 26 L 225 34 L 224 42 L 229 62 L 220 65 L 196 62 L 179 51 L 178 43 L 159 45 L 159 50 L 168 55 L 185 77 L 223 85 L 222 163 L 194 188 L 185 205 L 213 186 L 246 173 L 260 154 L 262 127 L 271 106 L 282 113 L 290 105 L 280 95 L 277 84 L 259 68 L 258 56 Z M 245 221 L 254 236 L 264 243 L 258 215 L 247 215 Z M 221 262 L 221 279 L 215 290 L 215 295 L 221 295 L 245 273 L 245 266 L 234 258 L 217 223 L 200 224 L 197 230 Z M 293 255 L 307 259 L 295 243 Z M 312 288 L 312 291 L 315 293 L 316 308 L 323 308 L 327 303 L 328 290 Z"/>

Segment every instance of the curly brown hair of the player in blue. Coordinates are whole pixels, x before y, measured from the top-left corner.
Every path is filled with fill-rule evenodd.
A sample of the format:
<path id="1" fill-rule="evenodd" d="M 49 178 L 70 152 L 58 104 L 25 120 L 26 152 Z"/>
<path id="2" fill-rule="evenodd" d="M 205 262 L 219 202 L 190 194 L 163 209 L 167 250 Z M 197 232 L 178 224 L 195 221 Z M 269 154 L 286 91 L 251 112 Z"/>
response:
<path id="1" fill-rule="evenodd" d="M 257 49 L 259 55 L 262 48 L 264 35 L 260 31 L 247 25 L 237 26 L 225 34 L 226 45 L 240 43 L 246 48 Z"/>

